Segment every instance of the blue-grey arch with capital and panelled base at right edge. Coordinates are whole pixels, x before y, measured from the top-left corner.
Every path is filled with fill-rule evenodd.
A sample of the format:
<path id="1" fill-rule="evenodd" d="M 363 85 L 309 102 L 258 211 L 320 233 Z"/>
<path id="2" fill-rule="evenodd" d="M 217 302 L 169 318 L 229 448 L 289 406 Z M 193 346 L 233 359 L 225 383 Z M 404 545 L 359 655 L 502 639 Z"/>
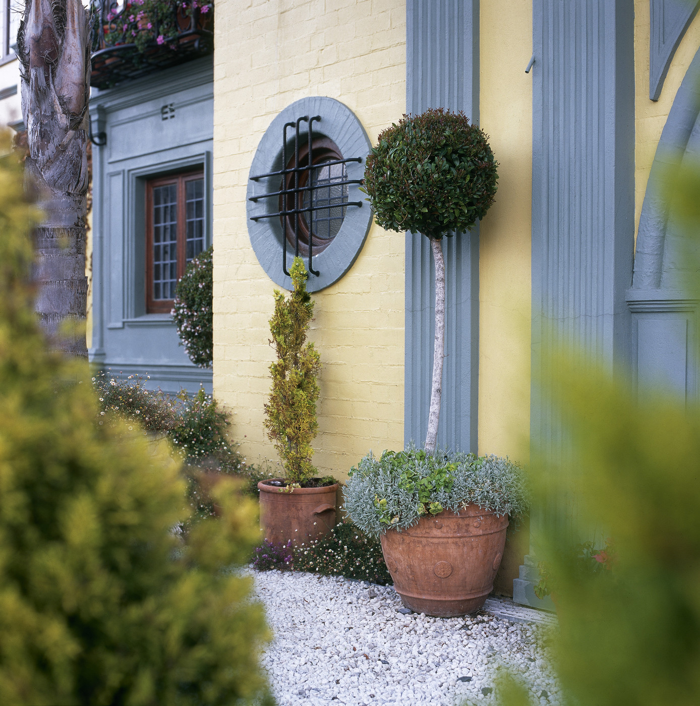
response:
<path id="1" fill-rule="evenodd" d="M 700 156 L 700 50 L 678 89 L 661 133 L 639 217 L 631 311 L 632 375 L 639 393 L 663 386 L 688 402 L 699 399 L 698 301 L 684 285 L 682 233 L 663 189 L 666 174 Z M 696 286 L 696 285 L 695 285 Z"/>

